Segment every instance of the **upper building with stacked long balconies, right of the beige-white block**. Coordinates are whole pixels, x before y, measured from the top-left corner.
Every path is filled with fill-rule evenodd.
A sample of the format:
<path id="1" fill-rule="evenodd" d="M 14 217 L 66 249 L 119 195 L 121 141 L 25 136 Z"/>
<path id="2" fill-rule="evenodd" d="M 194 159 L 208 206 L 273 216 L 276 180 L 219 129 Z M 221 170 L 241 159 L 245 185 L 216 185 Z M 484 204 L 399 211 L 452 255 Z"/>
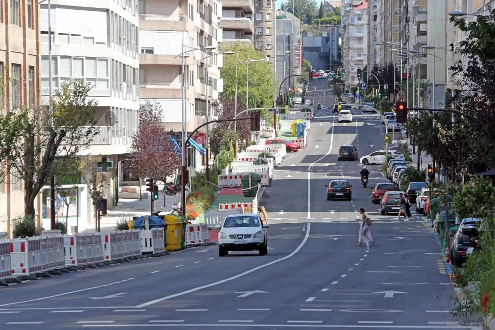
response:
<path id="1" fill-rule="evenodd" d="M 253 0 L 223 0 L 220 27 L 222 43 L 253 43 L 254 2 Z"/>

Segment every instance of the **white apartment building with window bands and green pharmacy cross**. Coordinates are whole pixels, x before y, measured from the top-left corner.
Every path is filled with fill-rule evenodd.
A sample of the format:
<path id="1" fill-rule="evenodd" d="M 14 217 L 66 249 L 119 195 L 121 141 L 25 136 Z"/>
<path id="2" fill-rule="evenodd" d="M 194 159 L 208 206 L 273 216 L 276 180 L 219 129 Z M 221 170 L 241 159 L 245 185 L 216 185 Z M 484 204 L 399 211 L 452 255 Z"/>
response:
<path id="1" fill-rule="evenodd" d="M 48 104 L 48 17 L 52 34 L 52 89 L 62 82 L 82 79 L 93 85 L 89 97 L 98 101 L 96 119 L 100 132 L 82 159 L 98 169 L 96 183 L 103 182 L 107 208 L 118 199 L 121 181 L 127 178 L 120 160 L 130 151 L 139 125 L 139 49 L 137 0 L 51 0 L 40 7 L 41 94 Z M 62 187 L 71 190 L 69 230 L 94 228 L 96 211 L 87 180 Z M 75 187 L 75 188 L 74 188 Z M 49 229 L 48 187 L 42 190 L 45 229 Z M 58 213 L 57 213 L 58 216 Z M 65 218 L 63 216 L 63 218 Z"/>

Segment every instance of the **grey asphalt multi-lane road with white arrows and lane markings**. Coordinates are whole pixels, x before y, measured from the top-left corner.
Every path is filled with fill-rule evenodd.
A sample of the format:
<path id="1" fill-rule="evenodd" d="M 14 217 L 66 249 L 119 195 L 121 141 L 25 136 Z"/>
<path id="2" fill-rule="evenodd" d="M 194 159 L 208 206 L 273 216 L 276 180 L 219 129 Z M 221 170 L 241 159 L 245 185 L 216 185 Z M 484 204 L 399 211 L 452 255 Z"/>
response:
<path id="1" fill-rule="evenodd" d="M 358 162 L 337 161 L 341 144 L 364 155 L 383 139 L 376 115 L 353 112 L 348 124 L 319 112 L 308 147 L 275 170 L 266 256 L 219 257 L 213 245 L 1 287 L 1 329 L 479 329 L 449 314 L 455 291 L 431 229 L 381 216 Z M 326 200 L 334 178 L 352 184 L 351 201 Z M 359 207 L 373 246 L 356 246 Z"/>

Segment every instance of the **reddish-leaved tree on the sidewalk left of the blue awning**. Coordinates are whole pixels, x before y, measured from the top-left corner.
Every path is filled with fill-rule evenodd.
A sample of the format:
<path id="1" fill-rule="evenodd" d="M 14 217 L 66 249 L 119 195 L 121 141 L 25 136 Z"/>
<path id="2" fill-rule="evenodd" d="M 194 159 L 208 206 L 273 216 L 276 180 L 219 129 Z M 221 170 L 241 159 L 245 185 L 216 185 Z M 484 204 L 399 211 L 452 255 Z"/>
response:
<path id="1" fill-rule="evenodd" d="M 159 103 L 147 100 L 140 104 L 139 131 L 132 137 L 132 152 L 123 164 L 135 176 L 161 180 L 179 166 L 180 152 L 162 118 Z"/>

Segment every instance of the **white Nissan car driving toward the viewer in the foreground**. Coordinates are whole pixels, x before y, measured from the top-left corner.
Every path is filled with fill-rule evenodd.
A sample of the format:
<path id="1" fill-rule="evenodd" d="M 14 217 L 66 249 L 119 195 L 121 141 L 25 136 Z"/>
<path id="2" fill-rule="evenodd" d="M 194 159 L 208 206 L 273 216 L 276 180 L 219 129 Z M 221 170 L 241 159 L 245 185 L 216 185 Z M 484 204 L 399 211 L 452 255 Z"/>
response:
<path id="1" fill-rule="evenodd" d="M 263 223 L 257 214 L 228 215 L 218 233 L 218 255 L 229 251 L 258 251 L 259 255 L 268 253 L 269 224 Z"/>

